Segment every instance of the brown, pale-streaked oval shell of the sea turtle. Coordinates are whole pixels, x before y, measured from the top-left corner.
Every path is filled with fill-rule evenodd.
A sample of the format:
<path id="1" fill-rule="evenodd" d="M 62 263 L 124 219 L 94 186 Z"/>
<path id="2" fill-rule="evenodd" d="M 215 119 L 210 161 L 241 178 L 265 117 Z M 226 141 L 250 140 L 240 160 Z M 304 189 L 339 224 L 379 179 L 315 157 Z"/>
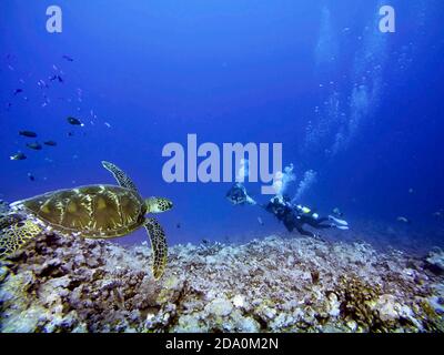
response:
<path id="1" fill-rule="evenodd" d="M 64 233 L 84 237 L 129 234 L 144 221 L 147 207 L 132 190 L 113 185 L 89 185 L 59 190 L 14 204 Z"/>

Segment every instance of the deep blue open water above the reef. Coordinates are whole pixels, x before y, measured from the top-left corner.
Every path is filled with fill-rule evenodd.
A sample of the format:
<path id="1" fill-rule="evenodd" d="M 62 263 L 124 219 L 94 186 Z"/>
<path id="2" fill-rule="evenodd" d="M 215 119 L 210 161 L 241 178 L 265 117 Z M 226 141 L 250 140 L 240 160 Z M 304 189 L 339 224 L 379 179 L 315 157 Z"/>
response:
<path id="1" fill-rule="evenodd" d="M 344 239 L 382 233 L 384 244 L 381 231 L 394 231 L 443 244 L 444 221 L 433 217 L 444 207 L 442 1 L 390 1 L 395 33 L 379 31 L 386 3 L 376 0 L 58 0 L 63 32 L 48 33 L 51 4 L 0 4 L 0 199 L 113 183 L 108 160 L 143 195 L 174 201 L 159 215 L 172 244 L 284 233 L 259 209 L 230 205 L 230 183 L 163 181 L 163 146 L 195 133 L 220 146 L 283 143 L 297 182 L 317 173 L 301 203 L 344 211 L 354 226 Z M 20 130 L 58 146 L 32 151 Z M 10 161 L 19 150 L 28 159 Z M 260 186 L 249 189 L 265 201 Z"/>

